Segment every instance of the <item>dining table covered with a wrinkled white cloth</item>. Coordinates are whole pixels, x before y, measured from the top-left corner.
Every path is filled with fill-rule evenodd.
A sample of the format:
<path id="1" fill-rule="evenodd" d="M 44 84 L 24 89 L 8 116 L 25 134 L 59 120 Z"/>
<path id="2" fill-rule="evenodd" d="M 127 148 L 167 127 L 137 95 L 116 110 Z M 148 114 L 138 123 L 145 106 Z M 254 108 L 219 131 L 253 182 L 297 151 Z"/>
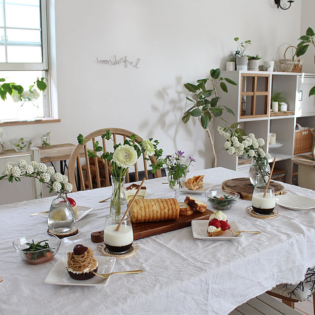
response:
<path id="1" fill-rule="evenodd" d="M 221 189 L 227 179 L 244 173 L 223 167 L 193 170 L 187 178 L 204 175 L 205 186 Z M 146 180 L 150 198 L 171 198 L 173 191 L 165 177 Z M 140 183 L 140 182 L 138 182 Z M 286 183 L 285 194 L 296 200 L 315 198 L 315 191 Z M 128 186 L 128 184 L 125 184 Z M 106 285 L 67 285 L 55 275 L 57 284 L 46 283 L 54 266 L 82 244 L 94 251 L 95 259 L 105 257 L 91 241 L 91 233 L 104 229 L 109 214 L 112 188 L 68 194 L 78 207 L 89 213 L 76 222 L 78 234 L 63 238 L 55 257 L 42 264 L 28 264 L 15 252 L 12 242 L 22 236 L 47 231 L 46 218 L 31 214 L 49 210 L 54 196 L 0 206 L 0 314 L 1 315 L 100 315 L 100 314 L 229 314 L 237 306 L 277 284 L 296 284 L 304 279 L 308 267 L 315 265 L 315 209 L 288 209 L 276 204 L 279 214 L 272 219 L 252 217 L 246 207 L 250 200 L 239 199 L 223 210 L 228 221 L 241 230 L 238 237 L 195 238 L 192 226 L 141 238 L 133 255 L 116 259 L 113 271 L 142 269 L 139 274 L 112 275 Z M 181 192 L 207 202 L 205 193 Z M 305 203 L 304 203 L 305 204 Z M 92 209 L 92 210 L 91 210 Z M 208 209 L 216 211 L 208 203 Z M 205 223 L 205 230 L 207 221 Z M 226 231 L 226 233 L 230 233 Z M 59 279 L 60 277 L 60 279 Z M 58 278 L 58 279 L 56 279 Z M 104 280 L 105 281 L 105 280 Z"/>

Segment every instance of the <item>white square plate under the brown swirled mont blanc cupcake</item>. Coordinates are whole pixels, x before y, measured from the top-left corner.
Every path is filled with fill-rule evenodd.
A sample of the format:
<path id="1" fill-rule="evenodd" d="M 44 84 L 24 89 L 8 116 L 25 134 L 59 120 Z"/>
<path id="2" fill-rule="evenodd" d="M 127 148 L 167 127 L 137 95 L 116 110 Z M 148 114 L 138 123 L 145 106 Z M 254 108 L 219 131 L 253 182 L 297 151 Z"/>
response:
<path id="1" fill-rule="evenodd" d="M 94 258 L 98 262 L 98 273 L 108 274 L 112 272 L 116 261 L 115 257 L 94 256 Z M 67 259 L 67 256 L 64 255 L 56 262 L 55 266 L 45 279 L 45 284 L 105 286 L 108 283 L 109 278 L 102 279 L 97 276 L 88 280 L 72 279 L 66 270 Z"/>

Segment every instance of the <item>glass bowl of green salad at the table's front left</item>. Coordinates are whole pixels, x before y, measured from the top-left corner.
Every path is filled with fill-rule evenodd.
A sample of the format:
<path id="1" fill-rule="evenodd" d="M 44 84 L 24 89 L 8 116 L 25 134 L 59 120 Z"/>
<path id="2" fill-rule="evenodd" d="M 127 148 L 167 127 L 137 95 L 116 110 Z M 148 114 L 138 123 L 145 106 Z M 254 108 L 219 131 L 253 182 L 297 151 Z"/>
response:
<path id="1" fill-rule="evenodd" d="M 37 242 L 41 242 L 40 245 L 45 245 L 48 243 L 47 248 L 37 250 L 37 251 L 23 251 L 29 248 L 29 243 L 36 244 Z M 23 236 L 15 241 L 13 241 L 13 247 L 15 251 L 21 256 L 23 260 L 30 264 L 41 264 L 52 259 L 56 253 L 59 251 L 59 247 L 61 244 L 61 239 L 57 236 L 50 234 L 50 233 L 39 233 L 33 236 Z"/>

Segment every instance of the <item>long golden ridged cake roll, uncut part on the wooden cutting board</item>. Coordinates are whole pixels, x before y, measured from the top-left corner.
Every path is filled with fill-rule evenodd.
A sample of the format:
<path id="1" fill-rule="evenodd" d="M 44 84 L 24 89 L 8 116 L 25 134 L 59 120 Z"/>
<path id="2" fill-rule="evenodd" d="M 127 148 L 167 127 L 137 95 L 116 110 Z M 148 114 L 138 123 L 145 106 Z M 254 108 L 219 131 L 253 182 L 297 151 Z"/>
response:
<path id="1" fill-rule="evenodd" d="M 178 220 L 179 204 L 175 198 L 135 199 L 129 216 L 133 223 Z"/>

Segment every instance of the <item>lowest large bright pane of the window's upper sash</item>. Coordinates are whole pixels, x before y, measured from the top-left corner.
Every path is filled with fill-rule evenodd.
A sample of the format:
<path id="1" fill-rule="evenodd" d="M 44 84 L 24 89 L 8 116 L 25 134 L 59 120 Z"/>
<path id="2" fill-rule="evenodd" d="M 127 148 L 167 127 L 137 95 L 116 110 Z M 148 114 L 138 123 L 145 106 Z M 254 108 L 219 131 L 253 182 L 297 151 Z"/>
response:
<path id="1" fill-rule="evenodd" d="M 41 63 L 41 47 L 9 46 L 8 63 Z"/>

